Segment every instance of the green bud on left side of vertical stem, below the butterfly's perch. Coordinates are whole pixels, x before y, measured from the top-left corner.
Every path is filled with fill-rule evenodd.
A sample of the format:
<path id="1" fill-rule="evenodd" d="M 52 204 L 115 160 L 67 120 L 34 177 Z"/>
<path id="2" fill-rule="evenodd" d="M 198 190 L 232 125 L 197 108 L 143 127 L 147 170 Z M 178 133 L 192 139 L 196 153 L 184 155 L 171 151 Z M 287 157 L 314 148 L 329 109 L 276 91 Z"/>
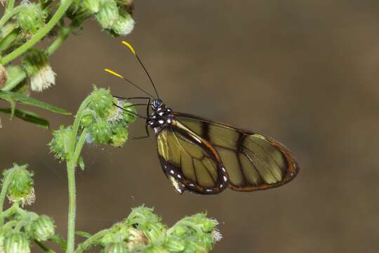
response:
<path id="1" fill-rule="evenodd" d="M 72 126 L 65 128 L 61 125 L 59 130 L 53 131 L 53 139 L 50 143 L 48 143 L 48 145 L 50 146 L 50 150 L 56 159 L 60 161 L 67 160 L 69 140 L 71 139 L 71 135 Z"/>

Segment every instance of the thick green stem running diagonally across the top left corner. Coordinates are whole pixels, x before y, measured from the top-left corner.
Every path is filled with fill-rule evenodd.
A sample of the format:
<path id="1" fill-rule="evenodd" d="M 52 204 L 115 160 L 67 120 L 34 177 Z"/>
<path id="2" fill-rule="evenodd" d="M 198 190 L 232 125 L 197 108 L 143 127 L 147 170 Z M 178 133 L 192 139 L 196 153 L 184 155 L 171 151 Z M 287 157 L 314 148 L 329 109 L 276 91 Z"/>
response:
<path id="1" fill-rule="evenodd" d="M 29 39 L 29 41 L 27 41 L 19 48 L 15 49 L 15 51 L 13 51 L 12 53 L 9 53 L 7 56 L 4 56 L 4 58 L 0 60 L 0 63 L 2 65 L 5 65 L 6 63 L 9 63 L 11 60 L 18 58 L 18 56 L 20 56 L 22 53 L 25 53 L 25 51 L 27 51 L 29 48 L 34 46 L 34 44 L 36 44 L 43 37 L 45 37 L 46 34 L 48 34 L 48 32 L 50 32 L 51 29 L 53 29 L 55 24 L 63 17 L 63 15 L 65 15 L 65 12 L 72 4 L 72 1 L 74 0 L 62 0 L 58 10 L 55 12 L 51 20 L 49 20 L 44 27 L 42 27 L 36 34 L 34 34 L 32 39 Z"/>

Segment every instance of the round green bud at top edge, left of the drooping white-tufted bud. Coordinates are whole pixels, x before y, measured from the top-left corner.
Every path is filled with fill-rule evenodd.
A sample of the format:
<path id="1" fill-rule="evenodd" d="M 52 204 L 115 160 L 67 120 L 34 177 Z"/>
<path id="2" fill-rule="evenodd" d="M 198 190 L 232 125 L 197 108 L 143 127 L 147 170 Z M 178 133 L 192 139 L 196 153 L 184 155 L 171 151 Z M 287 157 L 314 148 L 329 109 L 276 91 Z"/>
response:
<path id="1" fill-rule="evenodd" d="M 100 0 L 100 10 L 96 19 L 104 29 L 111 29 L 119 19 L 119 8 L 114 0 Z"/>

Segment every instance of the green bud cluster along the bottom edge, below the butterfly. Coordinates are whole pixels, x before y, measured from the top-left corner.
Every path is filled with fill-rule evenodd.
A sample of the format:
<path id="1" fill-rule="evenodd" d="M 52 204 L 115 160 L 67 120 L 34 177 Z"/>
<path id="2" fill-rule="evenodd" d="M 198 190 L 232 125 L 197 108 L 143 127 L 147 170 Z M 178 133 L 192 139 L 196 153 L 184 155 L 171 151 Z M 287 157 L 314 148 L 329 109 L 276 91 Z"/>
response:
<path id="1" fill-rule="evenodd" d="M 221 239 L 218 222 L 206 214 L 185 217 L 167 228 L 147 207 L 137 207 L 100 239 L 102 252 L 209 252 Z"/>

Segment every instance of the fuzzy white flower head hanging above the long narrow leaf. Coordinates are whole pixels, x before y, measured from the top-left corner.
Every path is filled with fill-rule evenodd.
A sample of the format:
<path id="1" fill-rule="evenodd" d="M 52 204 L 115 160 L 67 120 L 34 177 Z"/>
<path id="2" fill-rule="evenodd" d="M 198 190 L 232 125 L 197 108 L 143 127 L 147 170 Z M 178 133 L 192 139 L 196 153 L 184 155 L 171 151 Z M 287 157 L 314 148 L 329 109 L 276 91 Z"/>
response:
<path id="1" fill-rule="evenodd" d="M 50 65 L 41 67 L 36 74 L 30 77 L 30 86 L 32 91 L 44 91 L 48 89 L 52 84 L 55 84 L 55 72 Z"/>

